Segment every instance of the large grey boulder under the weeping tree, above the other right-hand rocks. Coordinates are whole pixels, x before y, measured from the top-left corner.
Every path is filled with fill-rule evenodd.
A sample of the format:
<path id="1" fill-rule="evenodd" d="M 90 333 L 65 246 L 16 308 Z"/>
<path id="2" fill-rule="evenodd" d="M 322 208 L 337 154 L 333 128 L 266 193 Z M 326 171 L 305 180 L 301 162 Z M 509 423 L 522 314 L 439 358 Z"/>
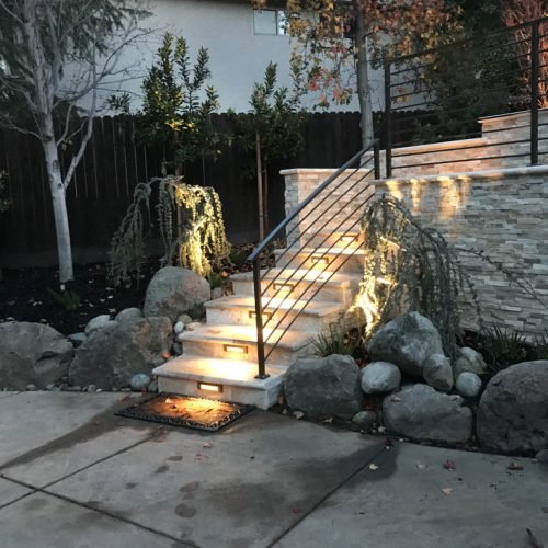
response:
<path id="1" fill-rule="evenodd" d="M 419 312 L 399 316 L 383 326 L 372 338 L 367 352 L 373 362 L 390 362 L 416 376 L 422 376 L 429 356 L 444 353 L 436 328 Z"/>

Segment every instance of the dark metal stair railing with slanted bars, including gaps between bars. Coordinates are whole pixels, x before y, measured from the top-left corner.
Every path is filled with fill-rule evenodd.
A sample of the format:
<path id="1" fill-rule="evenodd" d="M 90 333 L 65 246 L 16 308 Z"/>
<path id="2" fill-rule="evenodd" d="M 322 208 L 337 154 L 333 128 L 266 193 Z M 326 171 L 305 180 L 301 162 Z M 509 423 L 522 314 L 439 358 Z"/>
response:
<path id="1" fill-rule="evenodd" d="M 357 165 L 357 167 L 356 167 Z M 351 231 L 359 225 L 359 216 L 356 220 L 347 225 L 347 219 L 358 214 L 367 205 L 373 196 L 372 185 L 358 185 L 369 175 L 375 179 L 380 178 L 379 146 L 378 140 L 372 141 L 359 152 L 353 156 L 344 165 L 339 168 L 323 183 L 321 183 L 307 198 L 305 198 L 270 235 L 255 248 L 248 258 L 248 262 L 253 265 L 253 292 L 254 292 L 254 317 L 256 323 L 256 346 L 258 346 L 258 375 L 256 378 L 264 379 L 266 374 L 265 364 L 272 352 L 283 340 L 289 328 L 297 318 L 306 310 L 310 301 L 326 286 L 326 284 L 339 272 L 339 270 L 353 256 L 354 251 L 350 249 L 352 240 L 344 247 L 338 248 L 342 252 L 349 251 L 344 260 L 340 261 L 335 267 L 328 261 L 322 261 L 328 255 L 331 248 L 323 251 L 322 246 L 330 238 L 330 233 L 321 239 L 313 248 L 309 248 L 312 240 L 329 229 L 334 232 L 344 226 L 345 231 Z M 335 195 L 344 184 L 352 184 L 357 189 L 355 193 L 342 193 Z M 331 199 L 330 199 L 331 198 Z M 329 202 L 328 202 L 329 201 Z M 328 206 L 326 210 L 321 206 Z M 338 220 L 339 217 L 342 220 Z M 304 221 L 307 221 L 306 225 Z M 286 238 L 286 247 L 277 256 L 277 261 L 285 258 L 285 265 L 274 271 L 273 266 L 262 269 L 263 259 L 269 256 L 274 241 L 278 238 Z M 323 264 L 322 269 L 313 269 L 316 277 L 306 279 L 310 269 L 301 269 L 311 258 L 318 264 Z M 328 271 L 328 267 L 331 269 Z M 283 276 L 284 273 L 289 277 Z M 294 277 L 295 276 L 295 277 Z M 321 276 L 321 278 L 320 278 Z M 283 283 L 281 283 L 283 282 Z M 292 292 L 292 299 L 278 298 L 285 293 L 284 285 L 292 284 L 295 288 L 300 286 L 300 290 Z M 312 287 L 316 287 L 312 289 Z M 278 286 L 276 288 L 276 286 Z M 273 295 L 269 296 L 269 292 Z M 311 294 L 310 294 L 311 293 Z M 264 310 L 267 313 L 264 313 Z M 293 318 L 288 318 L 293 315 Z M 284 321 L 287 320 L 286 324 Z M 269 329 L 269 333 L 265 331 Z M 265 346 L 269 345 L 266 352 Z"/>

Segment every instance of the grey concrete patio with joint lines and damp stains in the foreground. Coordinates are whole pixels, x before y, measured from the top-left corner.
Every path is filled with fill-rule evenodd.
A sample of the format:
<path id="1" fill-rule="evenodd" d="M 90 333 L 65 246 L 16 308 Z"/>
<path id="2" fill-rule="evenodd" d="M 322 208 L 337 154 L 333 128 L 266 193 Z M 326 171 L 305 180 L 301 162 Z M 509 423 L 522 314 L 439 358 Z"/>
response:
<path id="1" fill-rule="evenodd" d="M 532 459 L 264 411 L 217 434 L 114 416 L 137 398 L 0 392 L 2 548 L 523 548 L 526 528 L 548 544 Z"/>

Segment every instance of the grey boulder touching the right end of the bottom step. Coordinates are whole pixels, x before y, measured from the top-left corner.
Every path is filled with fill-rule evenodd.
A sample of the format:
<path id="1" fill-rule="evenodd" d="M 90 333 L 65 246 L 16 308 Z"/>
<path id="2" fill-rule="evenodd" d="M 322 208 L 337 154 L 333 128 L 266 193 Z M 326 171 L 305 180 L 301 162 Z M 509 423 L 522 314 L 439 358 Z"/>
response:
<path id="1" fill-rule="evenodd" d="M 359 367 L 351 356 L 300 358 L 284 380 L 287 404 L 311 419 L 352 419 L 361 409 Z"/>

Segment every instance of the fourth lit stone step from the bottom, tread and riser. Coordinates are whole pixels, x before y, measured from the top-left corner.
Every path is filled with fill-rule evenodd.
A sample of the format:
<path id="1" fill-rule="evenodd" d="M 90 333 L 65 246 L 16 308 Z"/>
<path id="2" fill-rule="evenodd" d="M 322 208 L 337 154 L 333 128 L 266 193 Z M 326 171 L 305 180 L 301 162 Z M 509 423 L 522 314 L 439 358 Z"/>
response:
<path id="1" fill-rule="evenodd" d="M 352 273 L 321 273 L 315 270 L 272 269 L 262 271 L 261 282 L 265 296 L 290 297 L 315 301 L 341 302 L 345 307 L 352 305 L 354 295 L 359 288 L 362 276 Z M 230 276 L 235 295 L 253 296 L 253 273 L 244 272 Z"/>

